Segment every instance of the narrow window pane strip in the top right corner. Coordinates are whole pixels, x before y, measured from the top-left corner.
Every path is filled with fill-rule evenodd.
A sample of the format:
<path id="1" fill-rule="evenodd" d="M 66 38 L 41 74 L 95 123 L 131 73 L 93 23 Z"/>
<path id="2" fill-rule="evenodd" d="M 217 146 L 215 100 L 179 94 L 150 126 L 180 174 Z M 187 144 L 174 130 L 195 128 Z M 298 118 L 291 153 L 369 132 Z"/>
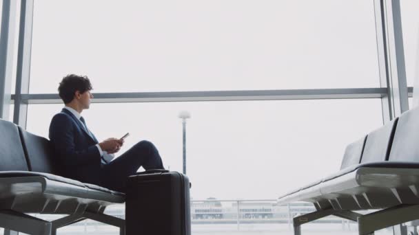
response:
<path id="1" fill-rule="evenodd" d="M 407 86 L 413 87 L 413 82 L 419 77 L 419 1 L 400 1 L 402 14 L 403 46 Z"/>

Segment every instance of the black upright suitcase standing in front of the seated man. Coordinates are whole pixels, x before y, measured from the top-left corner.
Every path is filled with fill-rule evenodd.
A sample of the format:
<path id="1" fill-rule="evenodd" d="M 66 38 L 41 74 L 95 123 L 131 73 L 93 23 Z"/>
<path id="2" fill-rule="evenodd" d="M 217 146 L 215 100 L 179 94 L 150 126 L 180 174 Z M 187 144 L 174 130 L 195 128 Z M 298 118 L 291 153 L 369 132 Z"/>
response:
<path id="1" fill-rule="evenodd" d="M 179 173 L 147 170 L 128 177 L 126 235 L 191 235 L 190 182 Z"/>

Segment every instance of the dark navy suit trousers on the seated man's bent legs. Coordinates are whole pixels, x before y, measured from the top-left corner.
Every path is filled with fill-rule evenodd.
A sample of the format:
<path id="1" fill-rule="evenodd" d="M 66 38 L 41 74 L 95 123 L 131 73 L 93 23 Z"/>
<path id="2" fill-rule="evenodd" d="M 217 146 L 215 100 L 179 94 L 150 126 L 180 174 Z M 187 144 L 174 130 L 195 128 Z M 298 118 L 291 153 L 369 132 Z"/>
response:
<path id="1" fill-rule="evenodd" d="M 125 192 L 127 177 L 135 175 L 141 166 L 145 170 L 164 169 L 156 146 L 146 140 L 138 142 L 110 163 L 102 164 L 100 186 Z"/>

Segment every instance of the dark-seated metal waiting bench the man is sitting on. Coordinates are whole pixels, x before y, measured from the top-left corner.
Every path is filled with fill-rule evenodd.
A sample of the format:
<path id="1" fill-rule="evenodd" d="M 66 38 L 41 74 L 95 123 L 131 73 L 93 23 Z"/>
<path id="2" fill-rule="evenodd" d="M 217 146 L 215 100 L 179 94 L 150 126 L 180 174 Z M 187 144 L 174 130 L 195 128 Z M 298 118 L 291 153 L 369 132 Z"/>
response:
<path id="1" fill-rule="evenodd" d="M 57 234 L 57 229 L 84 219 L 119 227 L 125 220 L 103 214 L 108 205 L 124 203 L 125 194 L 60 177 L 48 139 L 0 120 L 0 227 L 4 234 Z M 44 221 L 27 213 L 63 214 Z M 65 216 L 66 215 L 66 216 Z"/>

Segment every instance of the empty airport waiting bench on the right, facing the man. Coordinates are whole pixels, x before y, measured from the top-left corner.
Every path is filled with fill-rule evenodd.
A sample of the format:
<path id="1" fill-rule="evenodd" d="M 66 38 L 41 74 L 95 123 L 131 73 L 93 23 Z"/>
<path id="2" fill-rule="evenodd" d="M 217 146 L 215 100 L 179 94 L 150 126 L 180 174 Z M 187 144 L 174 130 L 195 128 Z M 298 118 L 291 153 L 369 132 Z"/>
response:
<path id="1" fill-rule="evenodd" d="M 279 197 L 278 204 L 292 201 L 316 208 L 294 218 L 294 234 L 329 215 L 357 221 L 359 234 L 419 219 L 419 109 L 349 144 L 340 171 Z"/>

